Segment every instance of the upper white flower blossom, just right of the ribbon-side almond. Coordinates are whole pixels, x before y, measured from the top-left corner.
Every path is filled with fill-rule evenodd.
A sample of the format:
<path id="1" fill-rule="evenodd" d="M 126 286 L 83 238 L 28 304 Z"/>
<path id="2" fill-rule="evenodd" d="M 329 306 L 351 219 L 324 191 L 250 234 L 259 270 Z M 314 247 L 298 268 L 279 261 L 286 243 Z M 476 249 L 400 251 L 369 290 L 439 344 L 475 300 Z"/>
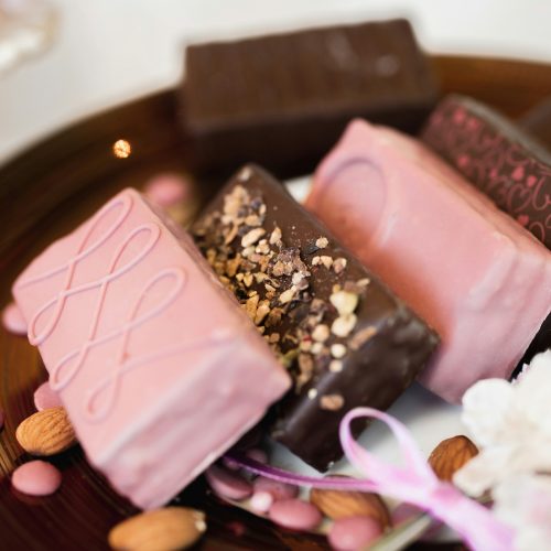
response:
<path id="1" fill-rule="evenodd" d="M 463 422 L 480 453 L 454 476 L 479 496 L 516 474 L 551 473 L 551 350 L 515 383 L 487 379 L 463 397 Z"/>

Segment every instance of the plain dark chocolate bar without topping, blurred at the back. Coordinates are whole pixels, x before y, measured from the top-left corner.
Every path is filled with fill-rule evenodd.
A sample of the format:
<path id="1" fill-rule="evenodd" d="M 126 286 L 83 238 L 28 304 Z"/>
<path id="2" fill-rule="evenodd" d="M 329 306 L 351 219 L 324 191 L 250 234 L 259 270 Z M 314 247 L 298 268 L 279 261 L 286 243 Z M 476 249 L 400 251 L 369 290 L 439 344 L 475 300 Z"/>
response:
<path id="1" fill-rule="evenodd" d="M 354 117 L 414 132 L 437 98 L 406 20 L 191 45 L 182 123 L 195 170 L 312 171 Z"/>

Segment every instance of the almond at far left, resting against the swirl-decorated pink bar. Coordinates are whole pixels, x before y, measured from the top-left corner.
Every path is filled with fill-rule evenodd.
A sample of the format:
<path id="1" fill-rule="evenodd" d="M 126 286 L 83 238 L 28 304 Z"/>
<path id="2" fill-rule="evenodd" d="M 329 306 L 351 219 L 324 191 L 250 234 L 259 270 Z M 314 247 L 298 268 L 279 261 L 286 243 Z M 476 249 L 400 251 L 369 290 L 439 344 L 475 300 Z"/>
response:
<path id="1" fill-rule="evenodd" d="M 75 431 L 62 408 L 50 408 L 26 418 L 15 431 L 21 447 L 33 455 L 54 455 L 76 444 Z"/>

